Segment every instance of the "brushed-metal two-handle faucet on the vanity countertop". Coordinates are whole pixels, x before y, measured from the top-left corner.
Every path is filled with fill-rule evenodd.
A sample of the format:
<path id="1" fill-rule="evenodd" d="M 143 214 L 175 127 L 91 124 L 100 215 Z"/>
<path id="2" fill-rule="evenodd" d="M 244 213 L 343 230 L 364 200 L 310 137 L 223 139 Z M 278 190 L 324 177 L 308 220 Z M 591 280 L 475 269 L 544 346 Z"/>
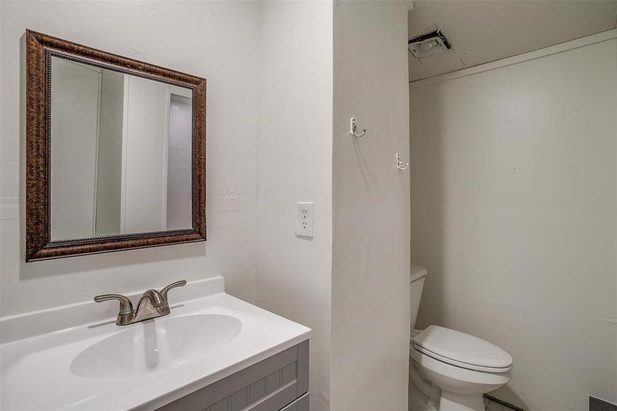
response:
<path id="1" fill-rule="evenodd" d="M 186 280 L 183 279 L 169 284 L 160 291 L 147 290 L 139 299 L 137 310 L 133 310 L 133 304 L 128 297 L 120 294 L 97 295 L 95 301 L 97 301 L 97 303 L 110 300 L 120 301 L 120 311 L 118 312 L 116 324 L 129 325 L 169 314 L 170 310 L 167 293 L 172 288 L 181 286 L 186 286 Z"/>

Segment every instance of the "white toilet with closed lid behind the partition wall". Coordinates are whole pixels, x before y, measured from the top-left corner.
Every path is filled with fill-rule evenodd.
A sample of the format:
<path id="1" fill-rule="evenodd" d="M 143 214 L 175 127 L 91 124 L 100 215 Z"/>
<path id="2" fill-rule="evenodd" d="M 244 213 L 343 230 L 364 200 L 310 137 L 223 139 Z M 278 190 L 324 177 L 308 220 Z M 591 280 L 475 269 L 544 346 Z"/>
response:
<path id="1" fill-rule="evenodd" d="M 415 330 L 426 275 L 427 269 L 412 265 L 410 364 L 432 384 L 425 388 L 427 396 L 435 397 L 439 390 L 434 386 L 440 388 L 440 411 L 483 411 L 483 394 L 512 379 L 512 356 L 488 341 L 453 329 L 430 325 Z M 416 370 L 410 370 L 410 376 Z"/>

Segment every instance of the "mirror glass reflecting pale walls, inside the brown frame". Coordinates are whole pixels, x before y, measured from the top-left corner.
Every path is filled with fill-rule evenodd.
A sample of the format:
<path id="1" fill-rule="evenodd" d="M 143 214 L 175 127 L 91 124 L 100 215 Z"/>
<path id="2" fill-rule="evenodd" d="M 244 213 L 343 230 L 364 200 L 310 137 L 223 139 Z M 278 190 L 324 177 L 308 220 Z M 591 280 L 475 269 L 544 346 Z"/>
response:
<path id="1" fill-rule="evenodd" d="M 51 240 L 192 226 L 192 91 L 51 57 Z"/>

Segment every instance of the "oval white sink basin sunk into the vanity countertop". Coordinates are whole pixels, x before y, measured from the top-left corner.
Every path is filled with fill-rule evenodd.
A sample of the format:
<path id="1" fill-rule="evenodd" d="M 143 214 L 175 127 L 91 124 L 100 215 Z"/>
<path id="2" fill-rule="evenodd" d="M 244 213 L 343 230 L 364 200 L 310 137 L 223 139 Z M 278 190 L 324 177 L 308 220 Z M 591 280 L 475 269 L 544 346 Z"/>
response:
<path id="1" fill-rule="evenodd" d="M 197 314 L 126 327 L 77 354 L 71 372 L 102 379 L 160 371 L 223 347 L 240 334 L 242 323 L 225 314 Z"/>

